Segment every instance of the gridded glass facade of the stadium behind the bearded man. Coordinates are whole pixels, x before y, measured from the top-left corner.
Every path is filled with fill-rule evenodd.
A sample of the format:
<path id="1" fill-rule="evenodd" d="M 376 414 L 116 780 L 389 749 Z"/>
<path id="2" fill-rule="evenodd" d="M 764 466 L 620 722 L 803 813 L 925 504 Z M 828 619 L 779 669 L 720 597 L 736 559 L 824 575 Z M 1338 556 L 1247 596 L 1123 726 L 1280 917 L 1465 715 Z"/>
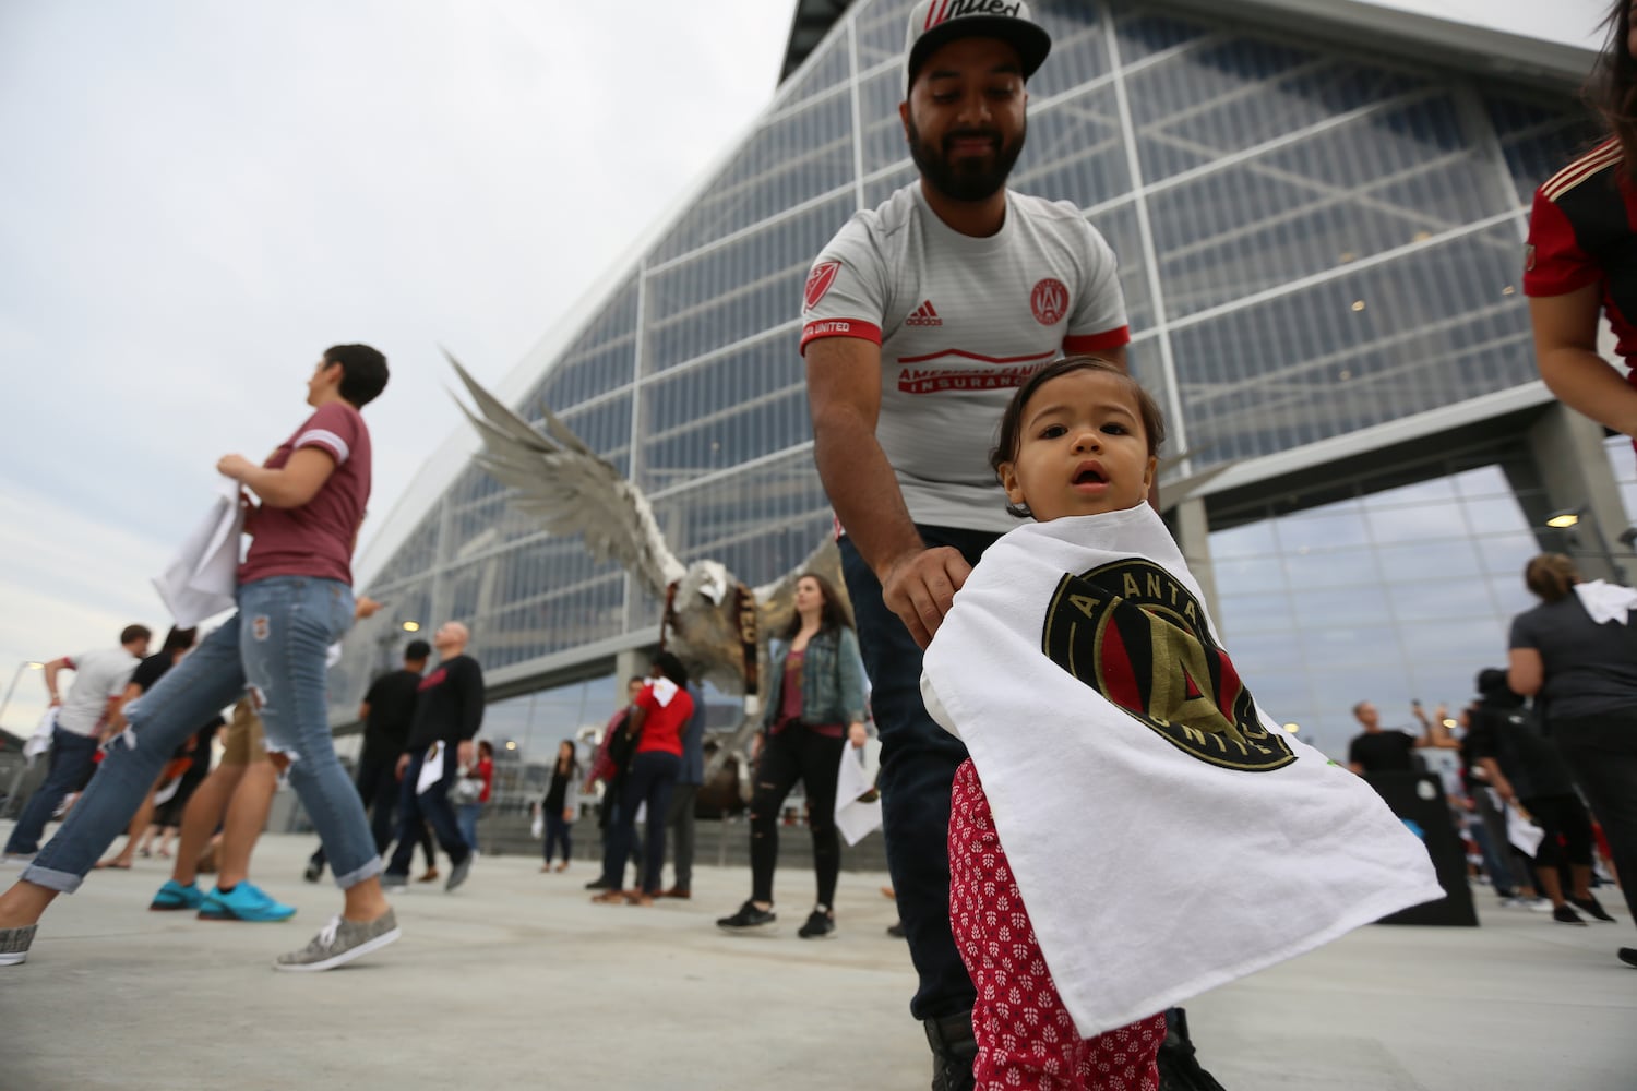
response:
<path id="1" fill-rule="evenodd" d="M 855 3 L 568 347 L 525 363 L 539 378 L 514 402 L 534 419 L 550 406 L 635 478 L 684 561 L 750 584 L 830 530 L 797 308 L 840 224 L 915 177 L 897 116 L 910 7 Z M 1133 370 L 1190 469 L 1536 379 L 1521 244 L 1534 186 L 1586 136 L 1572 87 L 1354 56 L 1295 21 L 1033 7 L 1054 47 L 1013 186 L 1077 203 L 1118 252 Z M 1333 751 L 1362 697 L 1388 720 L 1411 695 L 1463 700 L 1527 605 L 1519 571 L 1542 543 L 1527 474 L 1436 445 L 1423 461 L 1413 483 L 1360 468 L 1324 496 L 1210 510 L 1228 646 L 1264 705 Z M 1609 461 L 1629 468 L 1630 450 Z M 426 497 L 368 590 L 398 618 L 467 622 L 503 697 L 488 734 L 539 759 L 607 713 L 609 649 L 660 620 L 617 566 L 539 532 L 473 466 Z M 349 640 L 337 720 L 395 640 Z M 602 666 L 534 692 L 578 656 Z"/>

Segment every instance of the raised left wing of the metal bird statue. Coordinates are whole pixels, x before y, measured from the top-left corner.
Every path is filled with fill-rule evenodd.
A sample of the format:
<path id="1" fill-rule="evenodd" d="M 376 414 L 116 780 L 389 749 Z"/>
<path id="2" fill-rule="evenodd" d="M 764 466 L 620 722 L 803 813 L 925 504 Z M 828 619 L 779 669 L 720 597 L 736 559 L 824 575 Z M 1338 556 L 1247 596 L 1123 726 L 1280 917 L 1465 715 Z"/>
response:
<path id="1" fill-rule="evenodd" d="M 599 561 L 617 559 L 655 597 L 683 577 L 686 568 L 665 543 L 648 499 L 606 460 L 586 447 L 550 409 L 545 435 L 478 384 L 447 350 L 449 363 L 478 406 L 471 425 L 483 437 L 476 461 L 504 486 L 511 502 L 540 519 L 553 535 L 584 535 L 586 550 Z"/>

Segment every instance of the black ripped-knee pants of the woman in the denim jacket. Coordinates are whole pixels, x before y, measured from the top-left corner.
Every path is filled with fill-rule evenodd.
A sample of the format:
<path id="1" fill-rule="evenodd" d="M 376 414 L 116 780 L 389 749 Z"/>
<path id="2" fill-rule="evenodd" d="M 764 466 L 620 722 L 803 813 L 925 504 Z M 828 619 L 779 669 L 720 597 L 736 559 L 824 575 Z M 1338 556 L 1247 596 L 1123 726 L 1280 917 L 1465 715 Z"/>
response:
<path id="1" fill-rule="evenodd" d="M 846 739 L 832 739 L 800 725 L 769 734 L 756 762 L 750 800 L 751 901 L 773 901 L 773 869 L 779 862 L 779 811 L 800 780 L 807 790 L 807 826 L 814 834 L 814 873 L 818 905 L 835 905 L 841 872 L 841 842 L 835 833 L 835 779 Z"/>

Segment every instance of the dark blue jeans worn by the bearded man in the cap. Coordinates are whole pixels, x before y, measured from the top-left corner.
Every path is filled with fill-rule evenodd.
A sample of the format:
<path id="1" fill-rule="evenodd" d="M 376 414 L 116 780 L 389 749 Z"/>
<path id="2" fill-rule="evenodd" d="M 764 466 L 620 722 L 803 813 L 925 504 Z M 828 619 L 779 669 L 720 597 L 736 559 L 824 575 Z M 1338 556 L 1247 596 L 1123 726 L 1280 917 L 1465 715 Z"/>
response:
<path id="1" fill-rule="evenodd" d="M 969 564 L 1000 535 L 917 527 L 928 548 L 954 546 Z M 949 932 L 949 792 L 966 744 L 927 715 L 920 698 L 922 649 L 881 599 L 881 584 L 851 540 L 841 540 L 841 574 L 858 618 L 869 676 L 869 707 L 881 733 L 881 819 L 887 870 L 920 988 L 917 1019 L 972 1011 L 976 990 Z"/>

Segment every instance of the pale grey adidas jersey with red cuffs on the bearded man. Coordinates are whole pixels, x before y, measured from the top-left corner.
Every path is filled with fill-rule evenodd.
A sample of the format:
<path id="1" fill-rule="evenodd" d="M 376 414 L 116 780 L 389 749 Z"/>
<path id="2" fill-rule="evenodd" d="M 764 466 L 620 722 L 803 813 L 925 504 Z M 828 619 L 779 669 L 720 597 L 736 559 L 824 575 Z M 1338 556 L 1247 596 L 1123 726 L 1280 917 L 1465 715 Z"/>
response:
<path id="1" fill-rule="evenodd" d="M 1064 353 L 1131 340 L 1115 254 L 1067 201 L 1007 191 L 987 239 L 963 236 L 912 183 L 856 213 L 807 275 L 802 350 L 820 337 L 881 345 L 876 438 L 917 523 L 1007 532 L 989 469 L 1000 414 Z"/>

